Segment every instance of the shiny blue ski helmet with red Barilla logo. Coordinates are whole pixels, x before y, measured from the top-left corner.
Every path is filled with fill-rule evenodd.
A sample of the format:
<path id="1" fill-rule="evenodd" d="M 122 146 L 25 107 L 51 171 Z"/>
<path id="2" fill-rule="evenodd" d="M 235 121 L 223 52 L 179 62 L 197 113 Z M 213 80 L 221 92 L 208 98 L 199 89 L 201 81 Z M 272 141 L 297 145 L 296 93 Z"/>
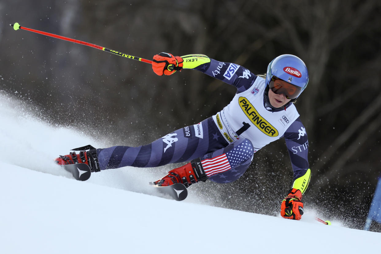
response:
<path id="1" fill-rule="evenodd" d="M 307 87 L 309 79 L 306 64 L 297 56 L 289 54 L 280 55 L 269 63 L 265 81 L 266 86 L 269 85 L 274 76 L 301 87 L 299 95 Z"/>

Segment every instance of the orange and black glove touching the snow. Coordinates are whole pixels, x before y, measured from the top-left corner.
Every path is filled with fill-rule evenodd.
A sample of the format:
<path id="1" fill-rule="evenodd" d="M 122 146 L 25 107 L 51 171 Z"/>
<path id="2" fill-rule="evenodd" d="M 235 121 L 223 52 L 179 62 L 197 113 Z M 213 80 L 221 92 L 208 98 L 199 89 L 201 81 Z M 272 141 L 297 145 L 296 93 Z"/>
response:
<path id="1" fill-rule="evenodd" d="M 280 215 L 286 219 L 300 220 L 304 213 L 301 200 L 302 192 L 295 188 L 291 189 L 290 193 L 282 201 Z"/>

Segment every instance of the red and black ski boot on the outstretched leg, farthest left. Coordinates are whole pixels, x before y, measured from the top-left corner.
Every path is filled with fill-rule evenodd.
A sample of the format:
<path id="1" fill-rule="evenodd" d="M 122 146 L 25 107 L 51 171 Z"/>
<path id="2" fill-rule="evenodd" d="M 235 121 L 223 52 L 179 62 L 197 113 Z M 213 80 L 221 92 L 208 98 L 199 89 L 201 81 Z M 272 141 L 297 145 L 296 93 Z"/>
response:
<path id="1" fill-rule="evenodd" d="M 80 151 L 80 150 L 83 150 L 83 151 Z M 96 153 L 96 149 L 93 146 L 86 145 L 84 147 L 78 147 L 78 148 L 72 149 L 72 151 L 80 151 L 80 152 L 78 154 L 75 152 L 70 152 L 70 154 L 65 156 L 60 155 L 54 161 L 58 165 L 86 163 L 87 165 L 89 165 L 91 172 L 101 171 L 101 169 L 99 168 L 99 163 L 98 163 L 98 155 Z"/>

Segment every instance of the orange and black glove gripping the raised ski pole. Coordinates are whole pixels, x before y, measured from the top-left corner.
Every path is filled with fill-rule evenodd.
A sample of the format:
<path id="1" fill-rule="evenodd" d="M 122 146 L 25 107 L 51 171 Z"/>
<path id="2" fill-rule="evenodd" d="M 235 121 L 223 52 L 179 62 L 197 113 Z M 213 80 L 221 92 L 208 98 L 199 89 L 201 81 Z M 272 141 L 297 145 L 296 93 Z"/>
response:
<path id="1" fill-rule="evenodd" d="M 162 52 L 154 55 L 152 70 L 159 76 L 163 74 L 172 75 L 176 70 L 181 71 L 182 62 L 184 62 L 184 60 L 182 60 L 181 57 Z"/>

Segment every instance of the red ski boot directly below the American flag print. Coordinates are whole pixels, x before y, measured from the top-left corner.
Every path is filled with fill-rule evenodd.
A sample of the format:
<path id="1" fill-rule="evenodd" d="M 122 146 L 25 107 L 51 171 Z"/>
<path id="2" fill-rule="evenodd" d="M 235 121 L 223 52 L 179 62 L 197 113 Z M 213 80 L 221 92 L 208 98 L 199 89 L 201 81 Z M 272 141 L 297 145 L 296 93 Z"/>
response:
<path id="1" fill-rule="evenodd" d="M 208 177 L 204 172 L 200 159 L 195 159 L 184 166 L 172 169 L 166 176 L 151 184 L 168 186 L 179 182 L 189 187 L 191 184 L 199 181 L 205 182 L 207 179 Z"/>

